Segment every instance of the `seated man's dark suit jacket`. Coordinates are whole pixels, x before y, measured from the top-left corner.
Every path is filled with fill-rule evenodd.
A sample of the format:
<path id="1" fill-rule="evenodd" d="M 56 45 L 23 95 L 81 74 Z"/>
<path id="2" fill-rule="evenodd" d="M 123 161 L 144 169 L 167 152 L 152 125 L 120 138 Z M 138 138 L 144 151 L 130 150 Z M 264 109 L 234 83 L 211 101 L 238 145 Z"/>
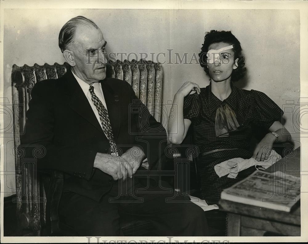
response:
<path id="1" fill-rule="evenodd" d="M 115 143 L 121 152 L 140 146 L 152 168 L 166 144 L 166 132 L 125 81 L 101 81 Z M 96 201 L 113 184 L 110 175 L 93 168 L 97 152 L 109 153 L 109 142 L 71 71 L 34 85 L 21 145 L 40 145 L 46 155 L 38 168 L 65 172 L 64 190 Z M 25 147 L 32 157 L 33 147 Z"/>

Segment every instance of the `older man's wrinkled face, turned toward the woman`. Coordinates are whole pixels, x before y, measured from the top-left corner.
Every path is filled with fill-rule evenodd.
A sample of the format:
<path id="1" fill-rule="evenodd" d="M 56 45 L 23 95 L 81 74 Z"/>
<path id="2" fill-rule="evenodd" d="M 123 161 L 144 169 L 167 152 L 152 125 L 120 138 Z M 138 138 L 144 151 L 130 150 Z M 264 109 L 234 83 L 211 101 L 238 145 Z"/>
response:
<path id="1" fill-rule="evenodd" d="M 95 27 L 78 26 L 71 44 L 74 57 L 74 73 L 87 83 L 106 78 L 106 41 L 101 30 Z"/>

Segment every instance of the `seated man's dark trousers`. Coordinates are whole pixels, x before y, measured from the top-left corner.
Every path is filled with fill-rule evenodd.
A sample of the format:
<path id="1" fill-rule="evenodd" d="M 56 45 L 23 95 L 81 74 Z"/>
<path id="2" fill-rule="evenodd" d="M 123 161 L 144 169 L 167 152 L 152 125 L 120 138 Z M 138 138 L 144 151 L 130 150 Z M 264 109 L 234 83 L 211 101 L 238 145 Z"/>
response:
<path id="1" fill-rule="evenodd" d="M 132 221 L 148 219 L 157 236 L 208 235 L 204 211 L 187 196 L 177 195 L 164 181 L 155 187 L 148 186 L 141 185 L 136 177 L 119 180 L 99 202 L 63 193 L 60 218 L 80 236 L 122 236 L 120 222 L 125 215 Z"/>

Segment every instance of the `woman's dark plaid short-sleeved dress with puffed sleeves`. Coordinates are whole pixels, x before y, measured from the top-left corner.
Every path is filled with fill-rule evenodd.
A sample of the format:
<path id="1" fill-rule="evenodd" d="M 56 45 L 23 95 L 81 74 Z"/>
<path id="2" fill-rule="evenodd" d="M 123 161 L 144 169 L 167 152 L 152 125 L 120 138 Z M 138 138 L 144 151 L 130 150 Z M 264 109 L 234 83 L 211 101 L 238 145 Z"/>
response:
<path id="1" fill-rule="evenodd" d="M 231 94 L 224 101 L 211 92 L 211 84 L 201 88 L 201 93 L 188 95 L 184 99 L 184 118 L 192 121 L 195 143 L 200 149 L 197 170 L 201 181 L 201 198 L 208 204 L 217 204 L 221 191 L 236 183 L 239 179 L 219 178 L 214 166 L 232 158 L 249 159 L 249 143 L 252 137 L 252 124 L 266 129 L 276 120 L 280 120 L 283 111 L 263 92 L 239 89 L 231 83 Z M 236 114 L 239 127 L 230 131 L 229 137 L 216 137 L 216 109 L 227 103 Z M 220 148 L 239 148 L 213 152 L 202 156 L 202 152 Z"/>

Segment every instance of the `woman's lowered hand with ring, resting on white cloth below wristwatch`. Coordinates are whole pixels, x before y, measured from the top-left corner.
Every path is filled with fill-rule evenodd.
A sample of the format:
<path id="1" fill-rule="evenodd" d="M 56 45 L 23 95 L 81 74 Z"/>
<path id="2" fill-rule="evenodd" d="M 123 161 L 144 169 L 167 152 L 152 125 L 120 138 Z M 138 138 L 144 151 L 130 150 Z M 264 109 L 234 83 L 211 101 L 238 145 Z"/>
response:
<path id="1" fill-rule="evenodd" d="M 268 159 L 275 141 L 275 136 L 273 136 L 272 134 L 266 134 L 263 139 L 258 143 L 252 157 L 254 159 L 257 159 L 257 161 L 259 162 Z"/>

